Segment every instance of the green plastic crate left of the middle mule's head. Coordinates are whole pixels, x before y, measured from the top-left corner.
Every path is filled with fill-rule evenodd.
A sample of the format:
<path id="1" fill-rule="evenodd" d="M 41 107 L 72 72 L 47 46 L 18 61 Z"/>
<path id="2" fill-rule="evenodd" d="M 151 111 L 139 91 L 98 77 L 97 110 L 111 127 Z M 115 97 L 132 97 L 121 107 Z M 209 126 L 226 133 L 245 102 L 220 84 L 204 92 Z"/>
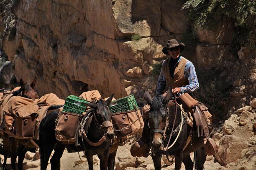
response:
<path id="1" fill-rule="evenodd" d="M 77 113 L 81 115 L 87 108 L 87 105 L 85 105 L 85 103 L 88 103 L 88 102 L 89 101 L 84 100 L 81 97 L 70 95 L 67 97 L 62 111 Z"/>

